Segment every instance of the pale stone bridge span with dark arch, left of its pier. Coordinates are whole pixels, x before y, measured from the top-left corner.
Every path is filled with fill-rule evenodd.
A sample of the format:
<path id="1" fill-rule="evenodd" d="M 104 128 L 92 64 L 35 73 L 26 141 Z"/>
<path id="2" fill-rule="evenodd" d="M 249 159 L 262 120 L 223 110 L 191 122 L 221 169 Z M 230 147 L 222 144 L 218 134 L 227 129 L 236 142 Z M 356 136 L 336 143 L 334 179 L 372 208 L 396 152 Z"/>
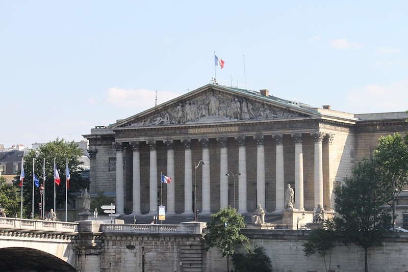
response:
<path id="1" fill-rule="evenodd" d="M 2 271 L 75 271 L 78 223 L 0 219 Z"/>

